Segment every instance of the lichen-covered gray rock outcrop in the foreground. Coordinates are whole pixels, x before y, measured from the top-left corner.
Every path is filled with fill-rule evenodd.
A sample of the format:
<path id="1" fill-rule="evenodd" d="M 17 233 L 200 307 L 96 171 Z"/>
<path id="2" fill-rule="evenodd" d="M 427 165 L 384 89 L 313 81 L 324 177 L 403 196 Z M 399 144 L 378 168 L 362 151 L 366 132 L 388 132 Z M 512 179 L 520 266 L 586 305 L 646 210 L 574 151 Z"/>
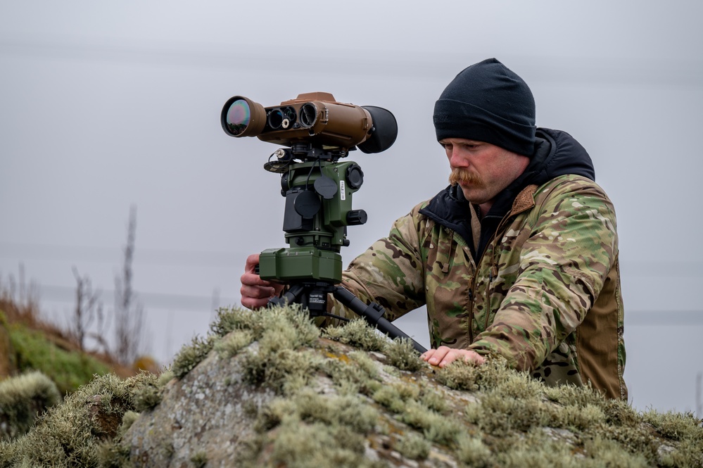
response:
<path id="1" fill-rule="evenodd" d="M 497 359 L 433 368 L 360 320 L 321 334 L 293 308 L 234 309 L 211 329 L 158 380 L 81 388 L 0 443 L 0 466 L 703 466 L 692 415 L 547 388 Z"/>

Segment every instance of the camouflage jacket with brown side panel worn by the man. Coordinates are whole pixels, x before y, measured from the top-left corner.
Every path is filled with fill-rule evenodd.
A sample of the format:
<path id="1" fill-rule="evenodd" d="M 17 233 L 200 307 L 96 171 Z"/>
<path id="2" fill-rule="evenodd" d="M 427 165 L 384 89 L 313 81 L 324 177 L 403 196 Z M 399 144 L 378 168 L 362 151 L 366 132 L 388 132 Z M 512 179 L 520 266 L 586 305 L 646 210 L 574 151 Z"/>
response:
<path id="1" fill-rule="evenodd" d="M 426 305 L 433 348 L 499 354 L 547 384 L 627 398 L 616 218 L 600 186 L 560 175 L 524 187 L 477 260 L 428 204 L 353 260 L 343 286 L 388 320 Z"/>

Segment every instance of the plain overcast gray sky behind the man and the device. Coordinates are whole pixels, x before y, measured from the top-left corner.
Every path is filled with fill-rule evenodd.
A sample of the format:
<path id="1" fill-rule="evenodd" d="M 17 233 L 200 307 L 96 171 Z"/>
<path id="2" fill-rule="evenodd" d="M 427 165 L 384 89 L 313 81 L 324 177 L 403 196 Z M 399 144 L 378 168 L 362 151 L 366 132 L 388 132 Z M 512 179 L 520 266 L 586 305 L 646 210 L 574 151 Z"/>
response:
<path id="1" fill-rule="evenodd" d="M 402 5 L 402 6 L 400 6 Z M 398 139 L 365 172 L 345 263 L 436 194 L 448 170 L 431 115 L 464 67 L 523 77 L 543 127 L 590 153 L 618 214 L 626 380 L 638 409 L 696 410 L 703 372 L 703 6 L 690 1 L 94 1 L 0 5 L 0 274 L 65 320 L 71 267 L 106 308 L 137 206 L 134 287 L 150 351 L 170 362 L 239 303 L 248 253 L 282 247 L 277 146 L 220 127 L 236 94 L 303 92 L 388 108 Z M 422 312 L 399 325 L 421 343 Z"/>

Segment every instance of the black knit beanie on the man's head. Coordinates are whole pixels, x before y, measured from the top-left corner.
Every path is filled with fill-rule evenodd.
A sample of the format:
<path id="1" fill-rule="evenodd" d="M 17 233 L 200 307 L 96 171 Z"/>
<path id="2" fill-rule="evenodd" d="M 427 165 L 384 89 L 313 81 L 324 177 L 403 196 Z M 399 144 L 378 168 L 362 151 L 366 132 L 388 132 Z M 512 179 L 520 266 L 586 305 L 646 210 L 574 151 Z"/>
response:
<path id="1" fill-rule="evenodd" d="M 455 77 L 434 105 L 437 139 L 486 141 L 531 156 L 535 145 L 535 99 L 521 77 L 495 58 Z"/>

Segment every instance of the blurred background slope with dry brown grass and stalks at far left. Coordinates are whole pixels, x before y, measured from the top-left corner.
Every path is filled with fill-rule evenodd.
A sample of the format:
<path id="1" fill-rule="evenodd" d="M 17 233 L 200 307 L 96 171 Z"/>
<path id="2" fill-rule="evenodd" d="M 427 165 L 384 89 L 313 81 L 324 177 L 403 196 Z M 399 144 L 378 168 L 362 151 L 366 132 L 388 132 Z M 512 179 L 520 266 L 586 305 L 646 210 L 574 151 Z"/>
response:
<path id="1" fill-rule="evenodd" d="M 25 434 L 47 408 L 94 377 L 125 379 L 139 370 L 122 364 L 106 347 L 85 348 L 96 317 L 86 279 L 77 276 L 75 322 L 63 329 L 42 317 L 37 287 L 27 286 L 23 276 L 20 267 L 19 281 L 0 278 L 0 440 L 5 441 Z M 156 371 L 153 360 L 144 362 Z"/>

